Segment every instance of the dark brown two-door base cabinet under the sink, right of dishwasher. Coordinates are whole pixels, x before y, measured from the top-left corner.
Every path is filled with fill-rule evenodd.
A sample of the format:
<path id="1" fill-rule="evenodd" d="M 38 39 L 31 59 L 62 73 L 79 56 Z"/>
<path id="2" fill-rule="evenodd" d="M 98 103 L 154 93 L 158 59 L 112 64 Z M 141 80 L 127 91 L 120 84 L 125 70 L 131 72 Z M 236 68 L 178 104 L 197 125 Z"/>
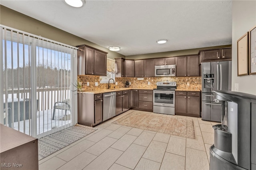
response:
<path id="1" fill-rule="evenodd" d="M 128 110 L 128 90 L 116 92 L 116 115 Z"/>

